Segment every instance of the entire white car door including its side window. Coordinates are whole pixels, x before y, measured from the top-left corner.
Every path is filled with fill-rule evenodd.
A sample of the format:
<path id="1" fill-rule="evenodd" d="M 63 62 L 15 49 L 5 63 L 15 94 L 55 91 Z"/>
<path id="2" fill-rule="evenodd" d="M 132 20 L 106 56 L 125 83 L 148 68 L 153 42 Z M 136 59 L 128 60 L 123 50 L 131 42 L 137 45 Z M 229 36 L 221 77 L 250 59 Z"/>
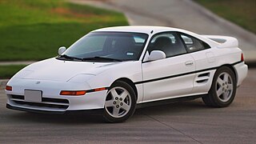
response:
<path id="1" fill-rule="evenodd" d="M 162 50 L 166 58 L 142 62 L 144 102 L 176 98 L 190 94 L 193 89 L 194 58 L 175 32 L 156 34 L 147 52 Z"/>

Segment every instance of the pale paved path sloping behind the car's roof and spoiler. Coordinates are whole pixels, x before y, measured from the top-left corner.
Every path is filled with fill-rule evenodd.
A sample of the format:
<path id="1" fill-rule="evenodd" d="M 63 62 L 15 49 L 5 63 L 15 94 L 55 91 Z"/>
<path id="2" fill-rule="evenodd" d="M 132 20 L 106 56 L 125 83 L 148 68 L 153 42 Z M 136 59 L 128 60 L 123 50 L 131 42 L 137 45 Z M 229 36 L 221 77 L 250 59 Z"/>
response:
<path id="1" fill-rule="evenodd" d="M 238 38 L 246 62 L 256 62 L 256 35 L 211 13 L 191 0 L 70 0 L 126 14 L 130 25 L 173 26 L 198 34 Z M 103 2 L 102 2 L 103 1 Z"/>

